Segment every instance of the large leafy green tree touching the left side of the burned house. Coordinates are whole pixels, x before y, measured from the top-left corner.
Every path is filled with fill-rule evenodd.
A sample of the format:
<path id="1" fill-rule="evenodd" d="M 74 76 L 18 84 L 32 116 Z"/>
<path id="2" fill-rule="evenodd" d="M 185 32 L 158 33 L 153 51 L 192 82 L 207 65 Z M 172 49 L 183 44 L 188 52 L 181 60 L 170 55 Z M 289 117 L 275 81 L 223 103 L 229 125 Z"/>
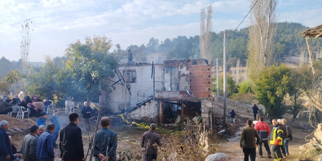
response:
<path id="1" fill-rule="evenodd" d="M 114 77 L 113 69 L 117 60 L 109 54 L 111 40 L 106 36 L 86 37 L 85 43 L 80 40 L 69 44 L 65 55 L 70 57 L 66 67 L 71 71 L 72 77 L 83 84 L 87 91 L 87 98 L 99 80 Z"/>

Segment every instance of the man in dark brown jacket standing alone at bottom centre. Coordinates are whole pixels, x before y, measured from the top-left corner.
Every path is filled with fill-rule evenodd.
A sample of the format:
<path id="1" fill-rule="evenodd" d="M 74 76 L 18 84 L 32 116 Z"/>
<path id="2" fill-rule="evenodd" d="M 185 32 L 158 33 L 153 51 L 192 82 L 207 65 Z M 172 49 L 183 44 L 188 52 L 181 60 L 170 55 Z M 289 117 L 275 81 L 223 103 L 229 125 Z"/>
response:
<path id="1" fill-rule="evenodd" d="M 158 148 L 154 147 L 154 144 L 161 146 L 160 144 L 160 135 L 154 132 L 156 129 L 156 124 L 151 124 L 149 131 L 143 133 L 141 146 L 147 150 L 147 155 L 145 157 L 146 161 L 156 160 L 158 153 Z"/>

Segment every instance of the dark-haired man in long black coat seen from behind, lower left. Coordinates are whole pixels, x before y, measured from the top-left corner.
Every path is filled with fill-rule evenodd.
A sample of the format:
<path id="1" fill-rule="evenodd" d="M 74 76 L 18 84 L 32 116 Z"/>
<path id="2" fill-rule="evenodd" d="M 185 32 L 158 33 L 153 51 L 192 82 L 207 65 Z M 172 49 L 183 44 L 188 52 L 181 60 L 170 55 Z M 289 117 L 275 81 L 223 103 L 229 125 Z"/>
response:
<path id="1" fill-rule="evenodd" d="M 62 159 L 64 161 L 82 161 L 84 160 L 84 148 L 81 137 L 81 128 L 77 126 L 79 123 L 78 114 L 70 114 L 69 121 L 70 123 L 67 126 L 65 126 L 60 132 L 60 157 L 63 157 Z"/>

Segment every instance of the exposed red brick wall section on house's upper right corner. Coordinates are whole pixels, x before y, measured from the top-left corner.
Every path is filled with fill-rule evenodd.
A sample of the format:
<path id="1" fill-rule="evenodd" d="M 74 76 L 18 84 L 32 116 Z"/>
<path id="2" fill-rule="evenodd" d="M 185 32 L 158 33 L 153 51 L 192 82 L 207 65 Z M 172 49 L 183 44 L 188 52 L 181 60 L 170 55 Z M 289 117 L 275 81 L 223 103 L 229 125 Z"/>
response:
<path id="1" fill-rule="evenodd" d="M 189 66 L 190 91 L 196 98 L 211 97 L 211 67 L 210 65 Z"/>

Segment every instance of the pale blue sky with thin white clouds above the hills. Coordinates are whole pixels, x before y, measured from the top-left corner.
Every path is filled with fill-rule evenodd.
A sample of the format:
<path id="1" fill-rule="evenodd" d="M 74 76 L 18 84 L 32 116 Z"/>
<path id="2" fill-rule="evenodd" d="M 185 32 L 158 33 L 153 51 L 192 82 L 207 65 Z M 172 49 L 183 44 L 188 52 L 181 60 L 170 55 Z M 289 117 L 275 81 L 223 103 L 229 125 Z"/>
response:
<path id="1" fill-rule="evenodd" d="M 178 35 L 199 34 L 200 10 L 213 6 L 213 31 L 234 29 L 250 9 L 251 0 L 1 0 L 0 57 L 18 61 L 20 31 L 25 19 L 34 30 L 31 62 L 44 55 L 63 56 L 68 44 L 85 36 L 105 35 L 122 49 L 147 44 L 151 37 L 163 41 Z M 308 27 L 322 24 L 322 0 L 280 0 L 279 22 Z M 247 27 L 248 17 L 238 29 Z M 112 49 L 114 49 L 113 46 Z M 112 51 L 110 50 L 110 52 Z"/>

